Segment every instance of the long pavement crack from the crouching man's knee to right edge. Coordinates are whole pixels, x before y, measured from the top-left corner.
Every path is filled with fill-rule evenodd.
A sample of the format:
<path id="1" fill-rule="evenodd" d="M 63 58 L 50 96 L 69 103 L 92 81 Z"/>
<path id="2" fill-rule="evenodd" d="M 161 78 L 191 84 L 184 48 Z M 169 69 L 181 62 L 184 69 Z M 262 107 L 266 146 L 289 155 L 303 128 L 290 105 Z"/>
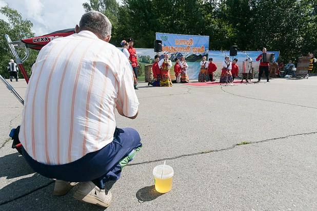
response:
<path id="1" fill-rule="evenodd" d="M 317 132 L 302 133 L 302 134 L 293 134 L 293 135 L 289 135 L 289 136 L 278 137 L 278 138 L 270 138 L 270 139 L 261 140 L 261 141 L 252 141 L 250 144 L 262 143 L 262 142 L 267 142 L 267 141 L 272 141 L 272 140 L 278 140 L 278 139 L 285 139 L 285 138 L 289 138 L 289 137 L 293 137 L 293 136 L 311 135 L 311 134 L 317 134 Z M 243 144 L 243 145 L 248 145 L 248 144 Z M 239 146 L 243 146 L 243 145 L 239 145 Z M 142 164 L 147 164 L 147 163 L 160 162 L 160 161 L 164 161 L 164 160 L 175 160 L 175 159 L 178 159 L 178 158 L 188 157 L 188 156 L 195 156 L 195 155 L 201 155 L 201 154 L 209 154 L 209 153 L 214 153 L 214 152 L 222 152 L 222 151 L 231 150 L 231 149 L 233 149 L 233 148 L 236 147 L 236 146 L 238 146 L 238 145 L 233 144 L 232 146 L 227 147 L 227 148 L 225 148 L 225 149 L 220 149 L 220 150 L 208 150 L 208 151 L 203 151 L 203 152 L 198 152 L 198 153 L 193 153 L 193 154 L 180 155 L 180 156 L 171 157 L 171 158 L 162 158 L 162 159 L 157 159 L 157 160 L 144 161 L 144 162 L 140 162 L 140 163 L 131 163 L 131 164 L 128 164 L 127 166 L 142 165 Z"/>

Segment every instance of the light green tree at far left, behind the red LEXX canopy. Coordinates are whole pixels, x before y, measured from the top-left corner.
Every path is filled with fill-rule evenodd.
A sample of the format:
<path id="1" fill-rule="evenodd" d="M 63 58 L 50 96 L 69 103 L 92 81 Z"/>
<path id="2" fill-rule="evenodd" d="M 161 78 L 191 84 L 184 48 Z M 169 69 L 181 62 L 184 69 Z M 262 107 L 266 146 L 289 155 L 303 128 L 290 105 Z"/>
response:
<path id="1" fill-rule="evenodd" d="M 12 41 L 33 37 L 33 24 L 30 22 L 30 20 L 24 20 L 21 13 L 18 13 L 8 5 L 0 8 L 0 13 L 4 14 L 9 20 L 9 22 L 5 22 L 5 20 L 0 19 L 0 74 L 4 77 L 8 77 L 9 72 L 7 70 L 7 65 L 9 60 L 14 59 L 14 57 L 5 39 L 5 34 L 8 34 Z M 20 58 L 24 57 L 24 49 L 16 48 L 16 51 Z M 38 54 L 37 51 L 32 49 L 30 49 L 29 52 L 29 58 L 23 63 L 28 74 L 31 73 L 31 65 Z M 19 77 L 23 77 L 21 71 L 19 71 Z"/>

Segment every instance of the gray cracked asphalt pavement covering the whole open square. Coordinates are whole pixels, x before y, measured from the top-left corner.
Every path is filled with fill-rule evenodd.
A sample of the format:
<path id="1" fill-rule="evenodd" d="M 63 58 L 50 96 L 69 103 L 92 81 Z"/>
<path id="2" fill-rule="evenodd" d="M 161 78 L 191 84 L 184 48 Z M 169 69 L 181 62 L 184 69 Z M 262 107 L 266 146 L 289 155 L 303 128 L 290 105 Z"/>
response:
<path id="1" fill-rule="evenodd" d="M 107 183 L 106 210 L 317 210 L 317 77 L 265 81 L 140 82 L 138 117 L 116 117 L 118 127 L 140 133 L 143 147 L 121 179 Z M 26 82 L 10 84 L 24 98 Z M 104 210 L 74 199 L 78 185 L 53 196 L 54 180 L 11 149 L 23 106 L 3 83 L 0 93 L 0 210 Z M 173 186 L 160 194 L 152 171 L 164 160 Z"/>

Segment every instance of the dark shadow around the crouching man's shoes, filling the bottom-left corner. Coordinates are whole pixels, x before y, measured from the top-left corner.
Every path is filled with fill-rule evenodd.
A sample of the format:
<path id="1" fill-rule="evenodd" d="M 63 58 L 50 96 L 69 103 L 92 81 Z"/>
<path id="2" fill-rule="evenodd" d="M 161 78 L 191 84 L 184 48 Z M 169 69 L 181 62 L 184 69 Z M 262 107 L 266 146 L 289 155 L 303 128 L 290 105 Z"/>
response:
<path id="1" fill-rule="evenodd" d="M 46 179 L 46 183 L 39 182 Z M 14 184 L 15 183 L 15 184 Z M 36 187 L 37 183 L 42 186 Z M 19 192 L 19 188 L 28 189 L 27 193 Z M 64 196 L 54 196 L 54 181 L 41 175 L 35 174 L 29 178 L 15 181 L 0 190 L 0 196 L 8 196 L 13 191 L 15 196 L 0 199 L 0 210 L 105 210 L 106 207 L 89 204 L 73 198 L 79 185 L 75 185 Z M 8 199 L 9 198 L 9 199 Z"/>

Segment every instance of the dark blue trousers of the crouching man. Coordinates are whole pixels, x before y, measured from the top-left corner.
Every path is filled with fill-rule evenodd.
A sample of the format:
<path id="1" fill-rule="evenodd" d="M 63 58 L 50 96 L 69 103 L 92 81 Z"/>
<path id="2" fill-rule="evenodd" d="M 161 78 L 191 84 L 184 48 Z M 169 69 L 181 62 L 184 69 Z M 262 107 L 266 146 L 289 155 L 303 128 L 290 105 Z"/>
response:
<path id="1" fill-rule="evenodd" d="M 31 158 L 24 148 L 23 157 L 35 172 L 44 177 L 68 182 L 93 181 L 104 189 L 105 182 L 118 180 L 122 168 L 142 147 L 140 135 L 131 128 L 115 129 L 113 141 L 96 152 L 62 165 L 47 165 Z"/>

